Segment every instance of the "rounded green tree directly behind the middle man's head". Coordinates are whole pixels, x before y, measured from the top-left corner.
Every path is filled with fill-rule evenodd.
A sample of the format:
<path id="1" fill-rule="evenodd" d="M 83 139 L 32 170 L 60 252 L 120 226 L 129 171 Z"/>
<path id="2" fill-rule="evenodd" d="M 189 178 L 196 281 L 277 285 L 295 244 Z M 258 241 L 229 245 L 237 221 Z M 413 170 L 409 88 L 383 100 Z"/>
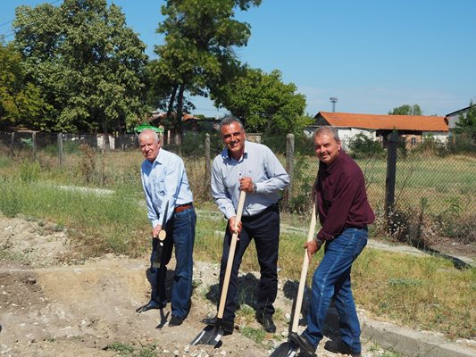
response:
<path id="1" fill-rule="evenodd" d="M 284 84 L 277 70 L 268 74 L 246 68 L 212 97 L 242 120 L 248 131 L 296 132 L 312 121 L 304 116 L 305 95 L 296 93 L 294 83 Z"/>

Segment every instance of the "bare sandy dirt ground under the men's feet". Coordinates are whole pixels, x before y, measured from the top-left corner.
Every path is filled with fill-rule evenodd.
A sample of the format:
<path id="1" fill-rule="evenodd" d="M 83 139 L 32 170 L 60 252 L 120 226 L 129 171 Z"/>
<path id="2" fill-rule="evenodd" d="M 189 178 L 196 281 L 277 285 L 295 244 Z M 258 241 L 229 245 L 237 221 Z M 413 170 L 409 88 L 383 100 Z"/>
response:
<path id="1" fill-rule="evenodd" d="M 138 355 L 135 353 L 146 346 L 155 345 L 154 354 L 147 356 L 259 357 L 268 356 L 286 341 L 295 283 L 280 281 L 276 307 L 282 316 L 276 316 L 278 332 L 274 338 L 265 338 L 267 342 L 259 345 L 246 337 L 246 327 L 260 328 L 255 320 L 248 319 L 238 320 L 235 333 L 223 336 L 219 348 L 190 346 L 205 327 L 200 320 L 215 312 L 218 264 L 196 262 L 196 287 L 188 319 L 180 327 L 169 327 L 170 304 L 163 311 L 135 311 L 150 294 L 148 257 L 129 259 L 108 254 L 79 262 L 74 255 L 65 230 L 0 216 L 0 355 Z M 250 292 L 256 283 L 251 273 L 240 277 L 240 294 L 250 305 Z M 120 343 L 136 348 L 136 352 L 121 354 Z M 321 346 L 320 356 L 336 356 Z M 363 356 L 381 353 L 372 343 L 363 345 Z"/>

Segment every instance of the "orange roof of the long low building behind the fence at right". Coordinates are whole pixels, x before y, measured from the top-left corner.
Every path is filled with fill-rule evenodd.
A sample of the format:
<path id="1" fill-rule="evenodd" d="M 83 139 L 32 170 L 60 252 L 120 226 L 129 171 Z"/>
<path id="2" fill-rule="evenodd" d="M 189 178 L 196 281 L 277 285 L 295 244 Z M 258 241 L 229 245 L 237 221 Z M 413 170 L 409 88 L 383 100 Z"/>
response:
<path id="1" fill-rule="evenodd" d="M 318 112 L 314 118 L 318 124 L 321 124 L 320 119 L 324 119 L 337 128 L 448 131 L 446 118 L 437 116 Z"/>

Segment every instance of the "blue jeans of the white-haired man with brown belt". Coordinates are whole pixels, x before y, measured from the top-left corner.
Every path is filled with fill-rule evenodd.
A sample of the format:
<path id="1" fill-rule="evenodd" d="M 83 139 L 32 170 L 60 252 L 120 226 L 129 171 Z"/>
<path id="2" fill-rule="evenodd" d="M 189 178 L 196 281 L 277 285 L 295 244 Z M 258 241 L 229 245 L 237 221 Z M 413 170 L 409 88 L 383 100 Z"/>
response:
<path id="1" fill-rule="evenodd" d="M 165 296 L 165 279 L 167 264 L 171 261 L 171 251 L 175 245 L 175 272 L 171 286 L 171 314 L 185 319 L 190 308 L 188 301 L 192 295 L 193 250 L 195 243 L 196 212 L 189 208 L 183 212 L 174 213 L 167 222 L 165 231 L 167 237 L 163 241 L 163 255 L 160 268 L 152 266 L 158 239 L 152 240 L 150 257 L 150 281 L 152 285 L 150 303 L 159 306 L 167 303 Z"/>

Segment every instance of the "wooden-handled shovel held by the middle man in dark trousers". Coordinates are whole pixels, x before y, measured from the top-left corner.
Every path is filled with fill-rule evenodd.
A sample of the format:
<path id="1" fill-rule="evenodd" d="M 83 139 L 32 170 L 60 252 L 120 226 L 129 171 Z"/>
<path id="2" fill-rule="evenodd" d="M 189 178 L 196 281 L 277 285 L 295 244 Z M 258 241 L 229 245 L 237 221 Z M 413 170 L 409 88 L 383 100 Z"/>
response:
<path id="1" fill-rule="evenodd" d="M 238 233 L 236 233 L 238 222 L 241 220 L 241 213 L 243 213 L 243 206 L 245 205 L 246 192 L 241 191 L 239 194 L 237 219 L 235 220 L 235 233 L 231 237 L 230 253 L 228 253 L 227 269 L 225 270 L 225 277 L 223 278 L 223 286 L 221 287 L 220 304 L 218 306 L 217 320 L 215 326 L 207 326 L 200 332 L 190 345 L 213 345 L 216 346 L 223 336 L 223 328 L 221 328 L 221 319 L 223 318 L 223 311 L 225 310 L 225 302 L 227 300 L 228 285 L 230 283 L 231 267 L 233 265 L 233 257 L 235 256 L 235 249 L 237 247 Z"/>

